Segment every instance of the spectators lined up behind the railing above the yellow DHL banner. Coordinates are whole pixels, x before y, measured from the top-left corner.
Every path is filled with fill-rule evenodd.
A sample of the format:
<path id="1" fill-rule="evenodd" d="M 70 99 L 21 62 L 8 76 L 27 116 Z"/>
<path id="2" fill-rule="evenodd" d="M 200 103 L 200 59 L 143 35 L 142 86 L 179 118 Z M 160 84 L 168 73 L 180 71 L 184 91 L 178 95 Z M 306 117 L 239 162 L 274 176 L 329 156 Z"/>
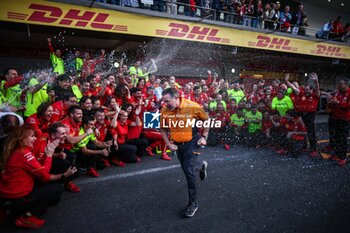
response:
<path id="1" fill-rule="evenodd" d="M 308 19 L 304 5 L 300 4 L 295 12 L 289 5 L 281 7 L 279 1 L 262 0 L 125 0 L 106 1 L 128 7 L 150 8 L 169 14 L 184 14 L 191 17 L 201 17 L 226 23 L 240 24 L 247 27 L 280 30 L 293 34 L 305 35 Z"/>

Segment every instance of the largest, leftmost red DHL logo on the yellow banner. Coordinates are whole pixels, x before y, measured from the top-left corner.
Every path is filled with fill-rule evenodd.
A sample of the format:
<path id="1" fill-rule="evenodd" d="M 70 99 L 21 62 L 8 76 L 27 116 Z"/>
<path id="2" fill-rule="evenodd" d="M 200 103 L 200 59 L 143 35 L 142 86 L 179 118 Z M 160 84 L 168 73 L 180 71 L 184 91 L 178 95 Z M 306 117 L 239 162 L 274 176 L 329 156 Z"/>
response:
<path id="1" fill-rule="evenodd" d="M 41 5 L 32 3 L 28 9 L 33 10 L 32 14 L 22 14 L 17 12 L 7 12 L 7 18 L 24 20 L 46 24 L 59 24 L 62 26 L 92 27 L 95 29 L 115 30 L 127 32 L 128 28 L 124 25 L 107 24 L 109 14 L 97 13 L 93 11 L 84 11 L 69 9 L 66 12 L 59 7 Z M 28 16 L 29 15 L 29 16 Z"/>

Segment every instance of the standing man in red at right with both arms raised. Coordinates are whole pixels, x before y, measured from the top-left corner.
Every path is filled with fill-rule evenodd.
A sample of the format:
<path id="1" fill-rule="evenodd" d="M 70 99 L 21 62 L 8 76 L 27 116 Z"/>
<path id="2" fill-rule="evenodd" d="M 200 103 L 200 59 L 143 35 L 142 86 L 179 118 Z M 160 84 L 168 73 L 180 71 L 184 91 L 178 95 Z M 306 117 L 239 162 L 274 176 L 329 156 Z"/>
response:
<path id="1" fill-rule="evenodd" d="M 307 129 L 307 136 L 310 143 L 310 156 L 315 157 L 317 156 L 315 117 L 318 103 L 320 101 L 320 85 L 318 83 L 317 74 L 310 73 L 309 78 L 315 83 L 315 89 L 313 89 L 310 85 L 306 85 L 304 88 L 297 88 L 288 81 L 288 74 L 286 75 L 286 82 L 295 93 L 295 97 L 293 98 L 294 107 L 297 112 L 300 112 Z"/>

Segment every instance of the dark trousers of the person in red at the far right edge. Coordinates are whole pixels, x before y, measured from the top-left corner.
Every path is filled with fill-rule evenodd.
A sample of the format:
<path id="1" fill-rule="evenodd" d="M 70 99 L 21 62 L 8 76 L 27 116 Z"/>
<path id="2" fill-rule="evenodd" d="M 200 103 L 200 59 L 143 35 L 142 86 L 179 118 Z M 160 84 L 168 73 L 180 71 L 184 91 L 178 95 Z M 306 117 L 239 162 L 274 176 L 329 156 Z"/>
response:
<path id="1" fill-rule="evenodd" d="M 348 149 L 349 122 L 345 120 L 334 120 L 334 145 L 335 154 L 340 159 L 346 158 Z"/>

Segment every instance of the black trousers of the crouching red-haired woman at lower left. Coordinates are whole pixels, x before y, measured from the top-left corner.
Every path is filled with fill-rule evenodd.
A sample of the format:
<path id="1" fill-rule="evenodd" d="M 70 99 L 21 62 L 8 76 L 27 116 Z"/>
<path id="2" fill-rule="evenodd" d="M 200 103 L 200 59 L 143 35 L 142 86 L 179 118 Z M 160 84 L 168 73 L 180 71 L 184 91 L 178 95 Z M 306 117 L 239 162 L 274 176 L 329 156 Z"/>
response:
<path id="1" fill-rule="evenodd" d="M 37 216 L 45 213 L 49 206 L 57 204 L 61 200 L 62 193 L 62 184 L 49 183 L 34 188 L 28 196 L 16 199 L 1 199 L 1 202 L 4 203 L 5 208 L 11 211 L 13 216 L 17 217 L 27 211 Z"/>

